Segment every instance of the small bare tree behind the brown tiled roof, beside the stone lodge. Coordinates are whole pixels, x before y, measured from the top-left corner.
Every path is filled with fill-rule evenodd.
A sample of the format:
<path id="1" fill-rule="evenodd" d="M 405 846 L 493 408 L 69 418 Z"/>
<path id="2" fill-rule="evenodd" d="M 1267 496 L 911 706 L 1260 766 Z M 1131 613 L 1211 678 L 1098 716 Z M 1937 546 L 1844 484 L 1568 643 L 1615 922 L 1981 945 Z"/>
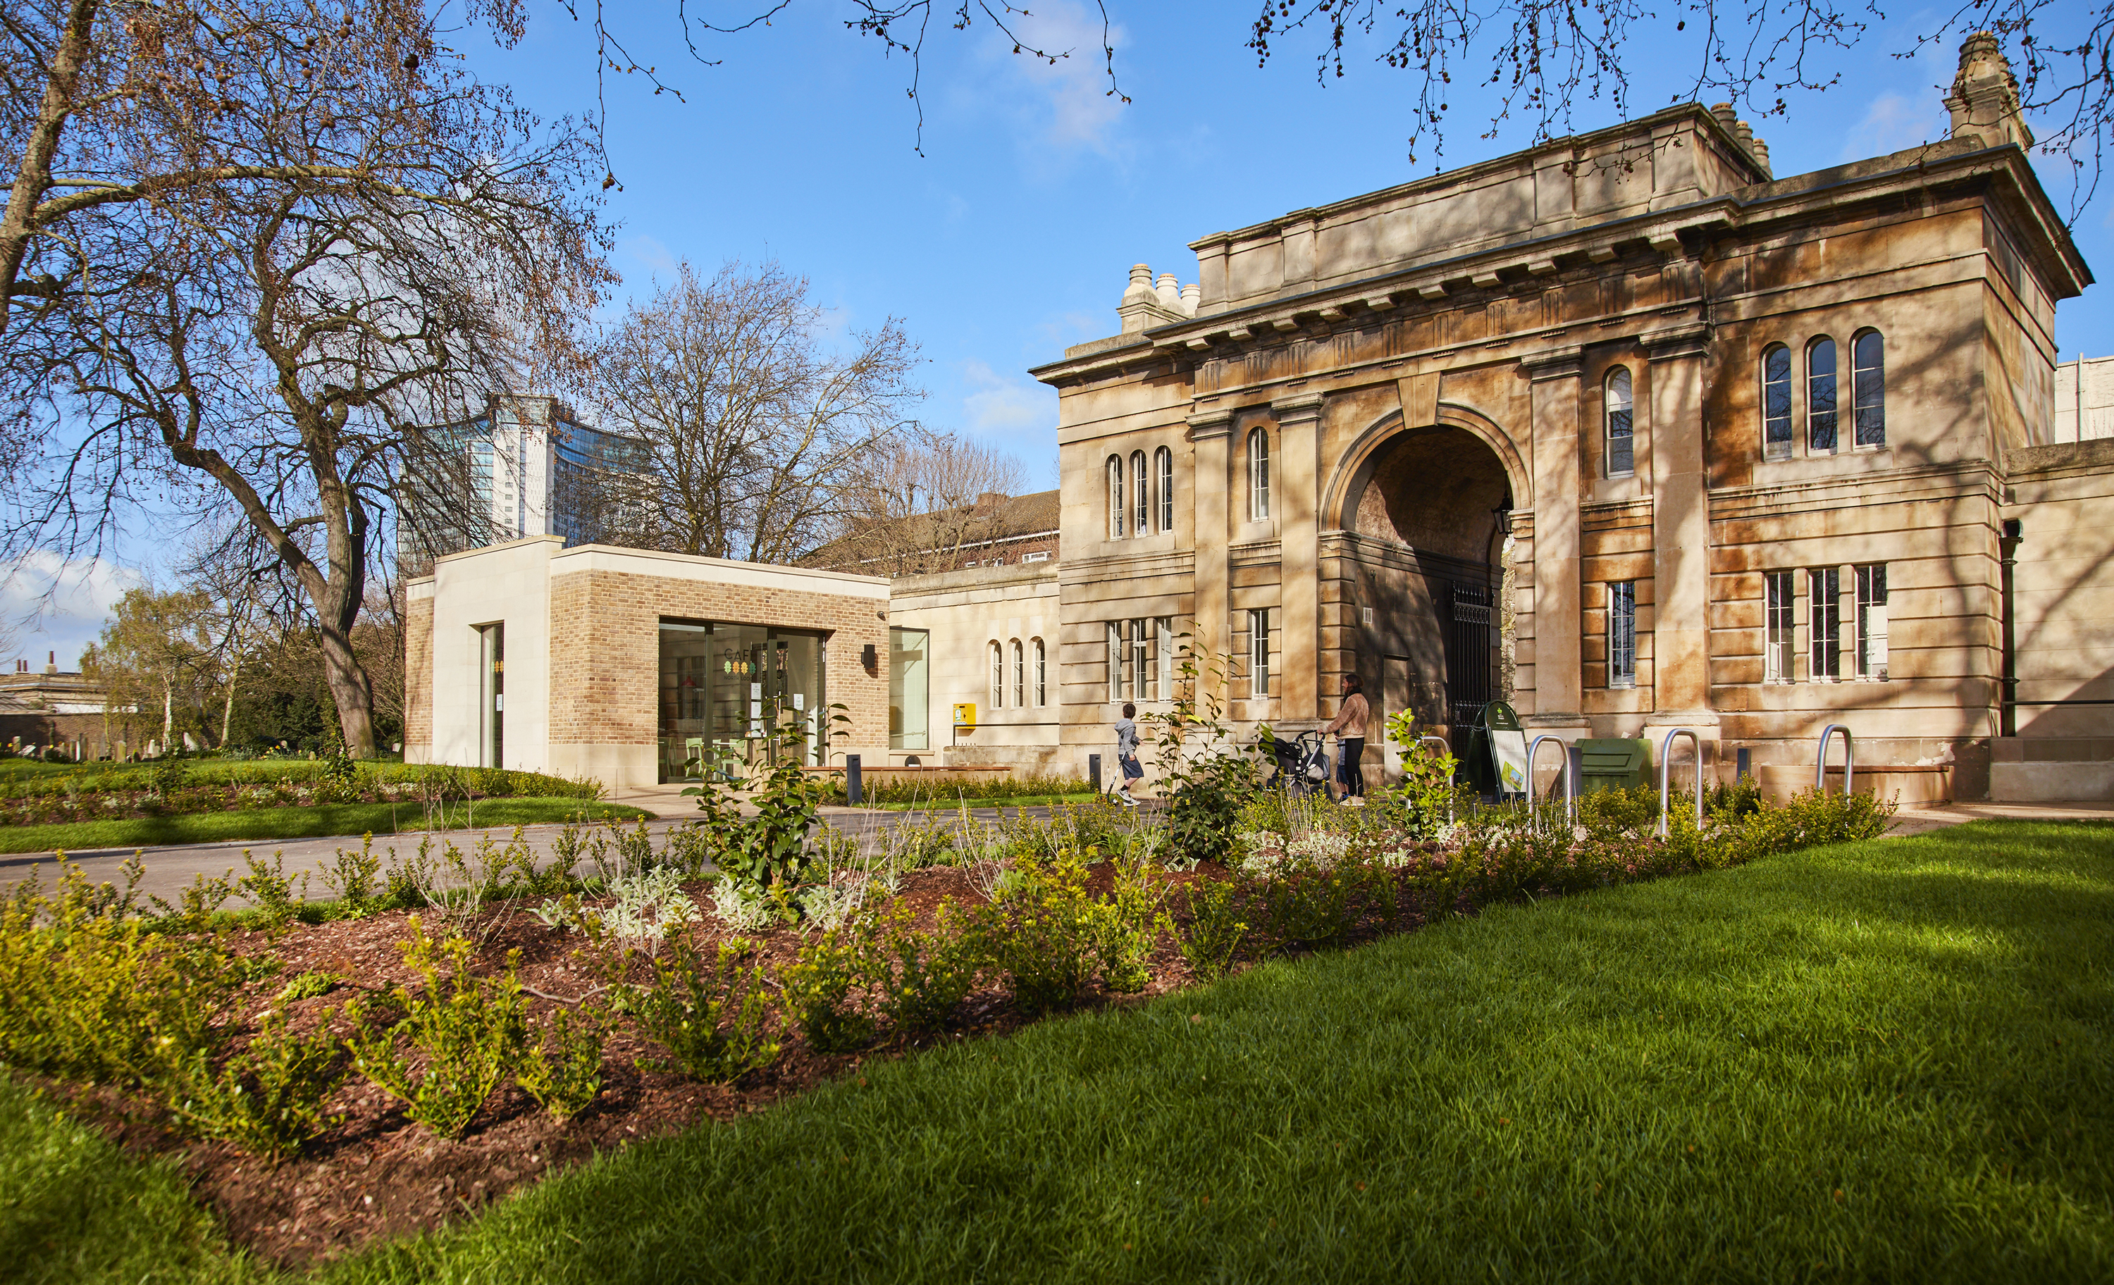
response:
<path id="1" fill-rule="evenodd" d="M 964 550 L 1021 535 L 1010 505 L 1021 463 L 951 433 L 903 433 L 856 465 L 839 526 L 812 562 L 869 575 L 953 571 Z"/>

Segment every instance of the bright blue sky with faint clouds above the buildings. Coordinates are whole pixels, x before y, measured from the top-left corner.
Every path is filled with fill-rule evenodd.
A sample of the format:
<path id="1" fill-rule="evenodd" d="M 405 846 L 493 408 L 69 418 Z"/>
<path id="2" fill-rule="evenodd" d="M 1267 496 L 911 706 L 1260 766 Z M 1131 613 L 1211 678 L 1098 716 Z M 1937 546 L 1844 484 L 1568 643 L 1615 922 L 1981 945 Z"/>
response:
<path id="1" fill-rule="evenodd" d="M 1431 154 L 1408 163 L 1412 78 L 1372 61 L 1378 42 L 1347 59 L 1349 74 L 1317 85 L 1313 42 L 1279 38 L 1266 68 L 1245 49 L 1249 4 L 1144 4 L 1112 0 L 1116 76 L 1131 104 L 1108 97 L 1099 13 L 1078 0 L 1032 4 L 1023 36 L 1074 57 L 1046 66 L 1015 57 L 989 25 L 956 32 L 945 8 L 924 59 L 924 154 L 905 95 L 909 61 L 843 30 L 850 6 L 795 0 L 769 25 L 700 38 L 691 59 L 670 0 L 624 0 L 611 23 L 641 63 L 685 101 L 653 97 L 641 76 L 609 76 L 609 154 L 622 190 L 607 216 L 619 224 L 619 296 L 689 258 L 706 275 L 723 260 L 776 258 L 808 275 L 837 330 L 905 319 L 922 344 L 922 418 L 1017 454 L 1030 486 L 1055 484 L 1057 397 L 1027 378 L 1065 344 L 1116 330 L 1116 300 L 1133 262 L 1192 281 L 1188 241 L 1275 213 L 1431 173 Z M 1387 6 L 1383 6 L 1385 11 Z M 721 21 L 736 4 L 691 2 Z M 750 11 L 753 13 L 753 11 Z M 1788 97 L 1788 118 L 1755 118 L 1776 173 L 1801 173 L 1943 137 L 1943 87 L 1958 42 L 1915 59 L 1911 32 L 1934 11 L 1894 11 L 1854 53 L 1826 93 Z M 1679 38 L 1632 38 L 1630 114 L 1653 112 L 1689 85 L 1695 49 Z M 501 51 L 467 42 L 474 68 L 514 87 L 545 116 L 594 108 L 594 55 L 586 23 L 537 4 L 528 36 Z M 1473 78 L 1463 63 L 1457 82 Z M 1484 63 L 1486 66 L 1486 63 Z M 1484 72 L 1488 74 L 1488 72 Z M 1571 131 L 1613 125 L 1615 106 L 1577 104 Z M 1444 165 L 1467 165 L 1533 142 L 1526 123 L 1495 139 L 1488 108 L 1457 93 Z M 2042 163 L 2051 197 L 2067 209 L 2067 178 Z M 2114 197 L 2078 228 L 2084 258 L 2114 273 Z M 2114 353 L 2114 285 L 2061 306 L 2063 357 Z M 144 550 L 131 539 L 127 550 Z M 146 554 L 137 554 L 146 556 Z M 63 619 L 25 636 L 17 653 L 61 662 L 99 628 L 120 583 L 110 569 L 70 569 L 91 588 Z M 19 592 L 8 598 L 21 598 Z"/>

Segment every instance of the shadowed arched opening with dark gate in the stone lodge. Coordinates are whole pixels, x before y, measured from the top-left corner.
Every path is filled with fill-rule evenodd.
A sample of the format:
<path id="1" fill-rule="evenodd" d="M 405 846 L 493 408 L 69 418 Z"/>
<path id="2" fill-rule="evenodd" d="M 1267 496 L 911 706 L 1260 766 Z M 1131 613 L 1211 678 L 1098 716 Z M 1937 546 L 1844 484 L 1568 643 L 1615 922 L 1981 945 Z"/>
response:
<path id="1" fill-rule="evenodd" d="M 1450 729 L 1507 695 L 1514 484 L 1499 452 L 1459 425 L 1383 427 L 1364 446 L 1345 461 L 1338 530 L 1323 537 L 1321 573 L 1336 579 L 1345 623 L 1323 659 L 1334 670 L 1323 691 L 1355 670 L 1380 712 L 1408 708 L 1418 723 Z M 1387 765 L 1395 761 L 1391 748 Z"/>

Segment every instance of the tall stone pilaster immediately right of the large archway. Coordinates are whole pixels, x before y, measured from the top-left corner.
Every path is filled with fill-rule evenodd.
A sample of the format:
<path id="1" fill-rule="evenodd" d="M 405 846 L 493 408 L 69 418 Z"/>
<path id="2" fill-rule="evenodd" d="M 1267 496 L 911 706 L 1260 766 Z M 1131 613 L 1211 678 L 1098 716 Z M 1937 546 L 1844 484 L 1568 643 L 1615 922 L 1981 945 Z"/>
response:
<path id="1" fill-rule="evenodd" d="M 1520 361 L 1531 380 L 1535 471 L 1535 727 L 1583 733 L 1579 693 L 1579 395 L 1577 344 Z"/>

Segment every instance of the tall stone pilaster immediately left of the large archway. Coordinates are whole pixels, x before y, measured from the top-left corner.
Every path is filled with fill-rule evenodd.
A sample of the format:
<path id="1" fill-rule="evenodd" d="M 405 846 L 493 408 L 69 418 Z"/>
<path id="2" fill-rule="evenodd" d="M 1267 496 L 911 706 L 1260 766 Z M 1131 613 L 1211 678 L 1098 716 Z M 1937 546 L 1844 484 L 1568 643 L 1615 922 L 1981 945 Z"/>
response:
<path id="1" fill-rule="evenodd" d="M 1285 613 L 1279 721 L 1321 716 L 1321 393 L 1271 402 L 1277 416 L 1279 602 Z"/>

